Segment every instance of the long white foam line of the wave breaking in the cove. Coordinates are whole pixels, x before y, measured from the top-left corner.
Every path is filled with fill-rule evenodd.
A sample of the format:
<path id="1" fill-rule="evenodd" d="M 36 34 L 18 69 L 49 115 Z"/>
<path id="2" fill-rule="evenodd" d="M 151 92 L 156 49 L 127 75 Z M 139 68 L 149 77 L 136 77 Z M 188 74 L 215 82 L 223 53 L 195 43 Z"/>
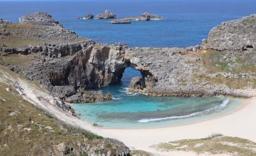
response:
<path id="1" fill-rule="evenodd" d="M 146 122 L 157 122 L 157 121 L 168 120 L 168 119 L 180 119 L 180 118 L 195 117 L 196 115 L 207 113 L 209 111 L 220 110 L 221 108 L 225 108 L 225 106 L 227 106 L 228 102 L 229 102 L 229 100 L 227 99 L 227 100 L 224 100 L 219 106 L 214 106 L 214 107 L 209 108 L 207 110 L 198 111 L 198 112 L 195 112 L 195 113 L 191 113 L 189 115 L 164 117 L 164 118 L 145 118 L 145 119 L 138 120 L 138 122 L 146 123 Z"/>

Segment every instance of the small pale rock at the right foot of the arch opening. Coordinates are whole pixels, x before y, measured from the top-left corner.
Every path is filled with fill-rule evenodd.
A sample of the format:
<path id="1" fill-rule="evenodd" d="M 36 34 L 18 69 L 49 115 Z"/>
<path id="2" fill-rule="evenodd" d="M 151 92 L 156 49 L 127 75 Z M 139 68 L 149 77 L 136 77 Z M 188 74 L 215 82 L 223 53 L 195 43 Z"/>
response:
<path id="1" fill-rule="evenodd" d="M 131 80 L 129 92 L 141 92 L 143 89 L 145 89 L 146 84 L 145 80 L 140 77 L 134 77 Z"/>

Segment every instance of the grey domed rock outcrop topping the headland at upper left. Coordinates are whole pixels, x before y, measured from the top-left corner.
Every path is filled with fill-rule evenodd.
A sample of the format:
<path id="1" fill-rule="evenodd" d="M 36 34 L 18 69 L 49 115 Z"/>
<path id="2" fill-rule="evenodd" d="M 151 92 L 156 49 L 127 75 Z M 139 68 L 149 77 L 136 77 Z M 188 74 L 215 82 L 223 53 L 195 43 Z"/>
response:
<path id="1" fill-rule="evenodd" d="M 31 13 L 19 18 L 21 24 L 40 24 L 40 25 L 58 25 L 59 22 L 54 20 L 51 15 L 43 12 Z"/>

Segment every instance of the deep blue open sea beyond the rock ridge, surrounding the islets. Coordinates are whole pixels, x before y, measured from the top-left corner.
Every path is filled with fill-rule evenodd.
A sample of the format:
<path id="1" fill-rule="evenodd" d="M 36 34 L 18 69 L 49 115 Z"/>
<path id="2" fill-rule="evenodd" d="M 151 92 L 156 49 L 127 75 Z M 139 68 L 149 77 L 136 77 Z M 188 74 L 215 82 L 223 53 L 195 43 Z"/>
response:
<path id="1" fill-rule="evenodd" d="M 200 44 L 215 25 L 256 13 L 255 8 L 255 0 L 0 0 L 0 17 L 18 22 L 22 15 L 46 11 L 68 29 L 95 41 L 172 47 Z M 104 10 L 111 10 L 118 18 L 149 12 L 165 20 L 132 21 L 128 25 L 111 25 L 108 20 L 77 20 L 80 15 L 97 15 Z"/>

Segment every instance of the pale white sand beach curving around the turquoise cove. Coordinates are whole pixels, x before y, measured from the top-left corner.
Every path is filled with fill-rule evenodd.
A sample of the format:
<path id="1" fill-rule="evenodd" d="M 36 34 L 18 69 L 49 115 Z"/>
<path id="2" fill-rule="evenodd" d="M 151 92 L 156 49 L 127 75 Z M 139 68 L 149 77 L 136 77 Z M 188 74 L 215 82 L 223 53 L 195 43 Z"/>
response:
<path id="1" fill-rule="evenodd" d="M 20 94 L 25 94 L 23 96 L 25 99 L 48 111 L 59 120 L 104 137 L 118 139 L 130 148 L 137 150 L 154 152 L 159 155 L 196 155 L 196 153 L 192 152 L 157 152 L 148 147 L 179 139 L 205 138 L 212 133 L 221 133 L 226 136 L 237 136 L 256 141 L 256 98 L 247 99 L 243 108 L 234 113 L 195 124 L 158 129 L 100 129 L 53 106 L 51 101 L 54 98 L 49 93 L 36 89 L 26 80 L 19 79 L 16 81 L 15 79 L 12 78 L 12 83 L 20 85 L 23 89 L 19 90 Z M 10 83 L 10 80 L 8 80 L 8 83 Z M 40 98 L 39 100 L 38 97 L 44 97 L 44 99 Z"/>

